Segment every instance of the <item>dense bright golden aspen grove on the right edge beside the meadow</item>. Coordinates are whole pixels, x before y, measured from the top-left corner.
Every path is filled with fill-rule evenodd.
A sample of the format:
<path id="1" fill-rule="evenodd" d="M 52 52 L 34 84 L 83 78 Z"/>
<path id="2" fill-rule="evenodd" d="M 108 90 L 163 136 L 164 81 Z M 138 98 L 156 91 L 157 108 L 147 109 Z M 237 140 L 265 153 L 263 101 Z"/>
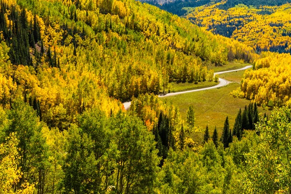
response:
<path id="1" fill-rule="evenodd" d="M 234 96 L 255 100 L 262 106 L 291 104 L 291 55 L 263 52 L 254 69 L 247 71 Z"/>

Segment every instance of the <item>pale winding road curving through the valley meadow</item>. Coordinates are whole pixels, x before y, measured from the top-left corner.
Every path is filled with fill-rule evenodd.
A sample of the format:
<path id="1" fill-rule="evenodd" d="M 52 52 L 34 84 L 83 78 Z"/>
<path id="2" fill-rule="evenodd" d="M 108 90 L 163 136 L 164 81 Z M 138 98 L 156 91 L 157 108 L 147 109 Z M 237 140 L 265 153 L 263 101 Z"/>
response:
<path id="1" fill-rule="evenodd" d="M 245 66 L 245 67 L 243 67 L 241 69 L 234 69 L 234 70 L 229 70 L 229 71 L 216 72 L 216 73 L 214 73 L 214 76 L 215 75 L 219 75 L 219 74 L 224 74 L 224 73 L 235 72 L 235 71 L 242 71 L 242 70 L 246 70 L 246 69 L 249 69 L 249 68 L 252 68 L 252 67 L 253 67 L 253 65 L 248 65 L 248 66 Z M 217 85 L 215 85 L 215 86 L 211 86 L 211 87 L 207 87 L 207 88 L 200 88 L 200 89 L 196 89 L 196 90 L 188 90 L 188 91 L 183 91 L 183 92 L 168 93 L 168 94 L 165 94 L 165 95 L 160 95 L 159 97 L 171 97 L 171 96 L 176 96 L 176 95 L 186 94 L 186 93 L 191 93 L 191 92 L 199 92 L 199 91 L 203 91 L 203 90 L 210 90 L 210 89 L 214 89 L 214 88 L 223 87 L 223 86 L 226 86 L 229 83 L 231 83 L 231 81 L 227 81 L 227 80 L 222 79 L 222 78 L 219 78 L 218 82 L 219 83 Z M 125 110 L 129 109 L 130 104 L 131 104 L 131 101 L 123 103 Z"/>

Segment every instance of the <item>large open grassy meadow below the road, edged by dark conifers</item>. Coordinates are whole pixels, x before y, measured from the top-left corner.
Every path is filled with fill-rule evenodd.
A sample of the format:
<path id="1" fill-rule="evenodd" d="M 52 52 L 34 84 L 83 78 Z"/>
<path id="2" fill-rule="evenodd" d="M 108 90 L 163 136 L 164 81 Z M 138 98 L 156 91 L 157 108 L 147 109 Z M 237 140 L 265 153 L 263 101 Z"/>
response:
<path id="1" fill-rule="evenodd" d="M 186 111 L 190 105 L 194 106 L 195 126 L 194 141 L 201 143 L 206 126 L 210 128 L 210 135 L 216 126 L 221 135 L 226 116 L 229 118 L 230 128 L 233 128 L 235 117 L 239 109 L 250 103 L 249 100 L 235 98 L 229 93 L 240 86 L 238 83 L 217 89 L 187 93 L 172 97 L 162 98 L 163 101 L 171 101 L 180 110 L 181 116 L 186 120 Z M 269 113 L 259 107 L 260 113 Z"/>

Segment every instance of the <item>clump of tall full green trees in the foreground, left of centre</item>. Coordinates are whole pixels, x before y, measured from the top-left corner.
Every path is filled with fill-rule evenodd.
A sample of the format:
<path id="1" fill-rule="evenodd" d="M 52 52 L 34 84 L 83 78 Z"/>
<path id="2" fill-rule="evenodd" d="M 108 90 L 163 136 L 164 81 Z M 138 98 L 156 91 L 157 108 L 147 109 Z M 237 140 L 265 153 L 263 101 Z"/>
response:
<path id="1" fill-rule="evenodd" d="M 159 159 L 153 135 L 136 117 L 86 112 L 68 131 L 65 192 L 151 193 Z"/>

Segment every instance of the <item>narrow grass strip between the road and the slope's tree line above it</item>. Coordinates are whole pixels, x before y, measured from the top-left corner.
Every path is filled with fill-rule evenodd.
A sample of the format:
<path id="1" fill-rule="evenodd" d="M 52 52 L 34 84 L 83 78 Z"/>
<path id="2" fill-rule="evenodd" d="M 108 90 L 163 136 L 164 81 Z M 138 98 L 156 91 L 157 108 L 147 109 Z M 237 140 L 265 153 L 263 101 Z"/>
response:
<path id="1" fill-rule="evenodd" d="M 187 90 L 195 90 L 195 89 L 200 89 L 200 88 L 206 88 L 206 87 L 211 87 L 214 85 L 217 85 L 217 82 L 214 81 L 203 81 L 203 82 L 198 82 L 198 83 L 176 83 L 172 82 L 169 84 L 170 86 L 170 91 L 171 92 L 181 92 L 181 91 L 187 91 Z"/>

